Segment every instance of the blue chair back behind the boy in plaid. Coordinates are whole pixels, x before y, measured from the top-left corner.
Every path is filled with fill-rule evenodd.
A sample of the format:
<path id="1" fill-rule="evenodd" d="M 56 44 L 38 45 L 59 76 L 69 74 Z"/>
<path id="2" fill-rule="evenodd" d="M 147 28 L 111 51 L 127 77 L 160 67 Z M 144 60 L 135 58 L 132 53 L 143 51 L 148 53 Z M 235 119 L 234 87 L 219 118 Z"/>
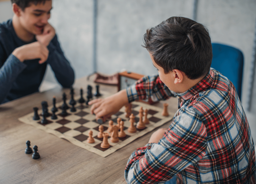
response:
<path id="1" fill-rule="evenodd" d="M 211 67 L 226 76 L 236 87 L 241 100 L 243 79 L 243 53 L 234 47 L 212 43 Z"/>

